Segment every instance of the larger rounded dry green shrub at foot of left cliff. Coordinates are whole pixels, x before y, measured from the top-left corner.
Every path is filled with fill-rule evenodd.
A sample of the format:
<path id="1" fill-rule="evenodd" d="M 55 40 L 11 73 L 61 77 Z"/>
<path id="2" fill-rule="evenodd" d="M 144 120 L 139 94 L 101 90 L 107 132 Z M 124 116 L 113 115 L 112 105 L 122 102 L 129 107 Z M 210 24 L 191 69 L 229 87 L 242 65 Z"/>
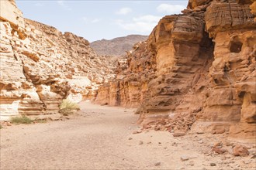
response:
<path id="1" fill-rule="evenodd" d="M 64 99 L 60 105 L 60 112 L 64 116 L 68 114 L 73 114 L 73 110 L 80 110 L 80 107 L 77 103 L 72 102 L 71 100 Z"/>

